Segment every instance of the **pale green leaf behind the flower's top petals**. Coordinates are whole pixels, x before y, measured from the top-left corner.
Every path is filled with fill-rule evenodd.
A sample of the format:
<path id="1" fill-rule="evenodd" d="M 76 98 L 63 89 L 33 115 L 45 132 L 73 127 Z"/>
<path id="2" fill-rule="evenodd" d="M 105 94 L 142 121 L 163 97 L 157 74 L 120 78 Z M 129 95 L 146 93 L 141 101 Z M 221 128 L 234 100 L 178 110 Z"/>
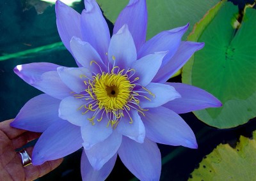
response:
<path id="1" fill-rule="evenodd" d="M 188 33 L 193 25 L 200 20 L 207 10 L 220 0 L 147 0 L 148 31 L 147 39 L 161 31 L 186 25 L 190 23 Z M 129 0 L 97 0 L 104 15 L 111 22 L 115 22 L 118 14 Z M 184 39 L 188 35 L 185 34 Z"/>

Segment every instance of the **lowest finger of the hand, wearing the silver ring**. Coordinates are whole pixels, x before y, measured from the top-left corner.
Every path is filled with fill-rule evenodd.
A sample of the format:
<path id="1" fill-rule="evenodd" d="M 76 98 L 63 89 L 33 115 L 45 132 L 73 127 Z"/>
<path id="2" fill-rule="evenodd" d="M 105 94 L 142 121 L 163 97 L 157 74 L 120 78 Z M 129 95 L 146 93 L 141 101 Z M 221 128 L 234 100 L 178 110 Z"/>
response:
<path id="1" fill-rule="evenodd" d="M 26 148 L 26 150 L 29 156 L 31 156 L 33 147 Z M 62 161 L 63 158 L 53 161 L 47 161 L 39 166 L 33 166 L 33 164 L 29 164 L 28 166 L 24 167 L 26 175 L 25 180 L 35 180 L 38 177 L 44 176 L 45 174 L 57 168 L 62 163 Z"/>

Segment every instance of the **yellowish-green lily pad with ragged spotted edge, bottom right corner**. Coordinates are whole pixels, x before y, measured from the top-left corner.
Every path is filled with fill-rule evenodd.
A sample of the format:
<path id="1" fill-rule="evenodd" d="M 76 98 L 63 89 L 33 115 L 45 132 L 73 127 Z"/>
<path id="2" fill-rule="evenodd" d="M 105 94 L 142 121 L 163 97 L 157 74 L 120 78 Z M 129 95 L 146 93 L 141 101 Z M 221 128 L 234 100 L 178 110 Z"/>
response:
<path id="1" fill-rule="evenodd" d="M 220 144 L 206 156 L 189 180 L 256 180 L 256 132 L 240 137 L 236 148 Z"/>

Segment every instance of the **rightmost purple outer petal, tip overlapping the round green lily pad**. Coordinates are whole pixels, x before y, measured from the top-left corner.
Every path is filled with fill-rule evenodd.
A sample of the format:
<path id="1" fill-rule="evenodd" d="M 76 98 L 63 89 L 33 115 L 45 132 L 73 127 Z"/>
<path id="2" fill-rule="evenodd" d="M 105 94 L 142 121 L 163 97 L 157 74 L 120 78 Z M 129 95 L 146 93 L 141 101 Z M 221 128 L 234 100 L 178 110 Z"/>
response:
<path id="1" fill-rule="evenodd" d="M 222 106 L 221 102 L 209 92 L 198 87 L 185 83 L 168 83 L 180 93 L 181 98 L 175 99 L 163 105 L 175 113 L 187 113 L 205 108 L 215 108 Z"/>

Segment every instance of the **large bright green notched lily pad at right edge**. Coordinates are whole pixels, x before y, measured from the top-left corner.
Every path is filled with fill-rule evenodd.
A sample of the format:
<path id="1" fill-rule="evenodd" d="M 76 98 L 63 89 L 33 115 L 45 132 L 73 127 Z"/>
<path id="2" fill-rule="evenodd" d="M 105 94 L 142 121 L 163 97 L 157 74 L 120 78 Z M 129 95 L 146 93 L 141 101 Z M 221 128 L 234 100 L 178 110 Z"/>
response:
<path id="1" fill-rule="evenodd" d="M 194 112 L 198 119 L 230 128 L 256 116 L 256 10 L 246 8 L 239 25 L 237 6 L 224 2 L 214 9 L 188 37 L 205 42 L 205 47 L 184 66 L 182 82 L 210 92 L 223 103 L 221 108 Z"/>

